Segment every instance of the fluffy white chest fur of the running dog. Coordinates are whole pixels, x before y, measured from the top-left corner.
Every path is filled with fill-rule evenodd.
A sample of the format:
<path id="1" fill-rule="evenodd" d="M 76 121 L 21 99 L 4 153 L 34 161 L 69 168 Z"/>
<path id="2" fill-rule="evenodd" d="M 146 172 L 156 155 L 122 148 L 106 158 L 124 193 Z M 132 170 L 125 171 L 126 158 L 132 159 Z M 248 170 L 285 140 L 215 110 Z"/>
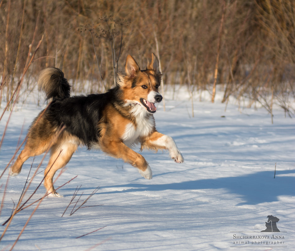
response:
<path id="1" fill-rule="evenodd" d="M 139 142 L 139 137 L 148 136 L 155 128 L 155 120 L 153 116 L 146 113 L 134 111 L 137 115 L 135 127 L 134 123 L 128 123 L 122 136 L 123 143 L 127 146 L 132 146 Z M 141 116 L 140 116 L 141 115 Z"/>

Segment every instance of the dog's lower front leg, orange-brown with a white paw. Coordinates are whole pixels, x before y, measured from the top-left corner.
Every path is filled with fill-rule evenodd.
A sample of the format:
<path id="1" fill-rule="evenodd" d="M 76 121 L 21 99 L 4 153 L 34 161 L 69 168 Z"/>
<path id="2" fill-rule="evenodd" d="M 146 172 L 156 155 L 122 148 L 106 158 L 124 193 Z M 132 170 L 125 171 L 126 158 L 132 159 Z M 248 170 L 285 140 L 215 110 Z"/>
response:
<path id="1" fill-rule="evenodd" d="M 101 145 L 101 150 L 113 157 L 123 159 L 125 162 L 138 168 L 139 173 L 145 178 L 150 180 L 152 175 L 152 170 L 150 165 L 146 162 L 145 158 L 134 152 L 128 146 L 126 146 L 122 141 L 106 141 L 103 140 Z"/>

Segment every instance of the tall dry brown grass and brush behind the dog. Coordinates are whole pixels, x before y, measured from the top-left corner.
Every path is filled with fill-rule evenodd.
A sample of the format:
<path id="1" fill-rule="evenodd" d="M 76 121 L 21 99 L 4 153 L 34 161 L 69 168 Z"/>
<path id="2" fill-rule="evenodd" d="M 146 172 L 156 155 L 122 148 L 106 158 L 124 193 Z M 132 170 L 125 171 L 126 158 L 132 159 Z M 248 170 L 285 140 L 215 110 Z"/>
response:
<path id="1" fill-rule="evenodd" d="M 28 79 L 56 66 L 74 91 L 100 92 L 101 79 L 106 88 L 113 86 L 127 54 L 145 65 L 156 52 L 167 85 L 210 92 L 213 83 L 222 85 L 222 102 L 234 95 L 263 103 L 261 96 L 273 93 L 290 115 L 286 95 L 294 95 L 294 13 L 291 0 L 0 0 L 0 102 L 12 97 L 32 38 L 35 48 L 44 35 Z M 91 36 L 80 32 L 86 25 L 96 35 L 101 74 Z"/>

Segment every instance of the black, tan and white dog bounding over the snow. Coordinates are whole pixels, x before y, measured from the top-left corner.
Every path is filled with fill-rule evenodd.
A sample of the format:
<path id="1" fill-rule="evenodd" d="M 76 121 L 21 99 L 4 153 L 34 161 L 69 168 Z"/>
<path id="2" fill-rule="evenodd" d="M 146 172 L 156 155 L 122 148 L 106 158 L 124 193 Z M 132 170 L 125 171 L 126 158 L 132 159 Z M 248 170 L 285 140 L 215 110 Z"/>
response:
<path id="1" fill-rule="evenodd" d="M 162 100 L 160 84 L 159 61 L 154 54 L 145 70 L 140 70 L 128 55 L 125 74 L 118 76 L 115 87 L 101 94 L 70 97 L 70 86 L 61 70 L 42 70 L 38 86 L 51 102 L 31 124 L 25 147 L 9 174 L 18 175 L 29 157 L 50 148 L 44 186 L 48 195 L 61 197 L 53 187 L 53 176 L 68 163 L 79 145 L 123 159 L 146 179 L 152 178 L 152 171 L 145 158 L 130 148 L 135 144 L 140 144 L 141 150 L 167 149 L 175 162 L 182 163 L 183 156 L 174 140 L 156 131 L 153 113 L 155 103 Z"/>

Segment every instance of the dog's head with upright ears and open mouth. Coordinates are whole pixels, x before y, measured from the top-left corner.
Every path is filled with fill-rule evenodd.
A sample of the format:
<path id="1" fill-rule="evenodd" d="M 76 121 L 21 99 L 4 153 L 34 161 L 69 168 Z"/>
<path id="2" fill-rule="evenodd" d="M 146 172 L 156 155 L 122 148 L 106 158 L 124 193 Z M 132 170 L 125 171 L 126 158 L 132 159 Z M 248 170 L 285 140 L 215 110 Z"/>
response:
<path id="1" fill-rule="evenodd" d="M 158 92 L 161 84 L 159 60 L 152 53 L 145 70 L 140 70 L 131 55 L 126 58 L 125 75 L 119 76 L 118 85 L 123 90 L 123 99 L 126 105 L 140 105 L 147 112 L 156 112 L 155 103 L 162 101 Z"/>

